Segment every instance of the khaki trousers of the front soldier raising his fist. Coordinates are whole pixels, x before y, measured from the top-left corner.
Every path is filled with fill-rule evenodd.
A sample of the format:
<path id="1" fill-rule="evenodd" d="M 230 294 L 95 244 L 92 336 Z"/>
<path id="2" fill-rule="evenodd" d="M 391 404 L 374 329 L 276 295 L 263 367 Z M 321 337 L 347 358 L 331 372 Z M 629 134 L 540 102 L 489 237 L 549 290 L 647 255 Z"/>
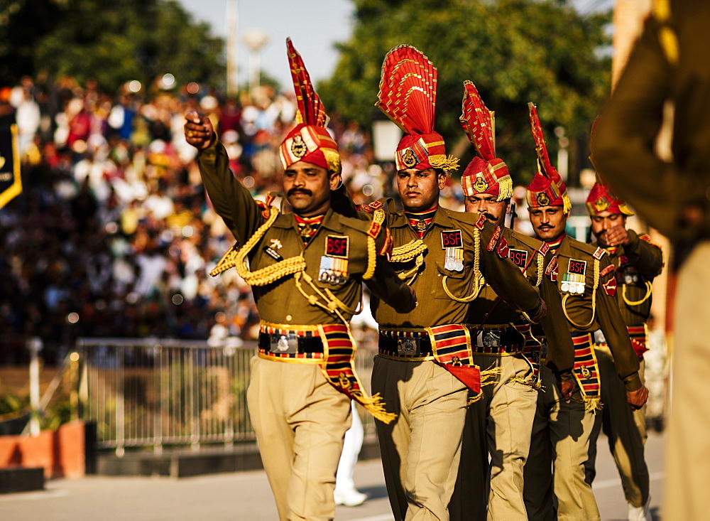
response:
<path id="1" fill-rule="evenodd" d="M 251 359 L 249 415 L 280 520 L 332 520 L 350 399 L 313 364 Z"/>

